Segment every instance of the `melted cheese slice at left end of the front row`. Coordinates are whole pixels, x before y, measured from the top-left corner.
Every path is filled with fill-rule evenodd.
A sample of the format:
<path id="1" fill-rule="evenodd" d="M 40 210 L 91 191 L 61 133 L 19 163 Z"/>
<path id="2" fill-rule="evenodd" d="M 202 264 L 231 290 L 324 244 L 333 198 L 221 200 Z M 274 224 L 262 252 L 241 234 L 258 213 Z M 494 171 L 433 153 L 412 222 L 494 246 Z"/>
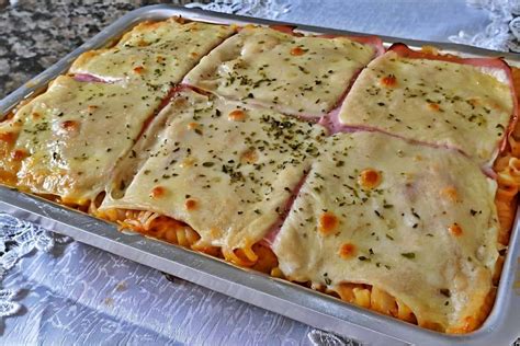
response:
<path id="1" fill-rule="evenodd" d="M 12 119 L 20 127 L 12 149 L 21 161 L 18 184 L 75 203 L 94 198 L 163 95 L 140 84 L 58 77 Z"/>

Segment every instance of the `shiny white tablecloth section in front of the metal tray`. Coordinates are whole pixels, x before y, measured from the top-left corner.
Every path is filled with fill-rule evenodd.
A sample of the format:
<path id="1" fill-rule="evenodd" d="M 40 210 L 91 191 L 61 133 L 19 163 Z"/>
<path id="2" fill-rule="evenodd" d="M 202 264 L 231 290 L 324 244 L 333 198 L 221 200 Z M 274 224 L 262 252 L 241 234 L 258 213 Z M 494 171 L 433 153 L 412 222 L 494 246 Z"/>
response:
<path id="1" fill-rule="evenodd" d="M 4 279 L 23 308 L 4 344 L 297 345 L 309 327 L 72 242 L 25 257 Z"/>

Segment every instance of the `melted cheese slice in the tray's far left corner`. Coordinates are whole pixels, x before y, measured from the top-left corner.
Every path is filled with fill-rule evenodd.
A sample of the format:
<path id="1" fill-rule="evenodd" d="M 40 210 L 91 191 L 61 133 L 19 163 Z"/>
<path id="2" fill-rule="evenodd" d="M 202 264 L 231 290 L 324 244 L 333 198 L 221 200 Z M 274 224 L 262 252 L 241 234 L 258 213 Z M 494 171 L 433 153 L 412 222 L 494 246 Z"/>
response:
<path id="1" fill-rule="evenodd" d="M 202 56 L 231 35 L 230 26 L 176 19 L 143 22 L 112 48 L 83 53 L 70 73 L 105 81 L 142 80 L 154 85 L 178 83 Z"/>

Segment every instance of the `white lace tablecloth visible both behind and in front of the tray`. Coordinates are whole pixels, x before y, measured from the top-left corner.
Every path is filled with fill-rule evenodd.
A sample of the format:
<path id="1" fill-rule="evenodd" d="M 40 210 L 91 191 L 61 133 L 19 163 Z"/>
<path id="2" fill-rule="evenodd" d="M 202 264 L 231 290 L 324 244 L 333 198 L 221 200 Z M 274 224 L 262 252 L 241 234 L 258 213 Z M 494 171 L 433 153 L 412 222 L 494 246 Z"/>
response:
<path id="1" fill-rule="evenodd" d="M 272 7 L 265 8 L 265 2 Z M 473 2 L 489 9 L 497 1 Z M 489 28 L 489 13 L 463 0 L 278 0 L 227 7 L 239 13 L 245 8 L 247 13 L 281 21 L 426 41 L 446 42 L 455 35 L 453 39 L 486 45 L 489 33 L 510 35 L 511 18 L 491 18 L 496 26 Z M 462 30 L 465 33 L 459 35 Z M 478 33 L 476 42 L 473 35 Z M 38 237 L 24 251 L 49 247 L 47 233 Z M 34 250 L 5 273 L 0 313 L 15 310 L 0 319 L 0 344 L 312 343 L 307 325 L 181 279 L 170 281 L 152 268 L 74 241 L 57 243 L 50 252 Z M 312 335 L 315 342 L 319 338 Z"/>

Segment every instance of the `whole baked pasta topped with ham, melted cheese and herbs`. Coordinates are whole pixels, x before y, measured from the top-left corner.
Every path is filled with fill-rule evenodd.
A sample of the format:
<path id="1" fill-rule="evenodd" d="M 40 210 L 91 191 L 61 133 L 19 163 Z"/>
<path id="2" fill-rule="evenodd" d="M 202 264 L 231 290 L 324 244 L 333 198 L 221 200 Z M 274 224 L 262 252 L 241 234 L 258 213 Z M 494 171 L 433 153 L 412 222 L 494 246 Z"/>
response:
<path id="1" fill-rule="evenodd" d="M 468 333 L 517 209 L 519 76 L 377 37 L 143 22 L 0 123 L 0 182 Z"/>

